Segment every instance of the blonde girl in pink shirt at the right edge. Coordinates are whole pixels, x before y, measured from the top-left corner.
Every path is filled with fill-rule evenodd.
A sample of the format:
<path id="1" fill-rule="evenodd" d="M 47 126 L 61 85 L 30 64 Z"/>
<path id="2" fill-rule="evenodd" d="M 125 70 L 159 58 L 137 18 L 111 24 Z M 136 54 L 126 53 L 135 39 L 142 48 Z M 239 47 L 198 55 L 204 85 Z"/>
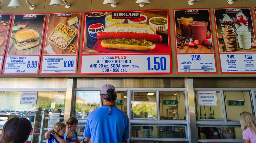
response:
<path id="1" fill-rule="evenodd" d="M 256 118 L 249 112 L 240 113 L 240 123 L 245 143 L 256 143 Z"/>

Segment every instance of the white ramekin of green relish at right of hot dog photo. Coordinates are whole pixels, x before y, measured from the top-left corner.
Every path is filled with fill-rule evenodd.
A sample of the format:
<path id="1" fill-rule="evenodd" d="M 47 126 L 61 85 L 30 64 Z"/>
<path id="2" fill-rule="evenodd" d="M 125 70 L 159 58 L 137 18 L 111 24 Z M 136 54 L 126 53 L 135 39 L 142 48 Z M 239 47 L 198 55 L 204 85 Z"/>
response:
<path id="1" fill-rule="evenodd" d="M 160 23 L 161 21 L 166 21 L 166 23 Z M 168 28 L 168 21 L 166 18 L 163 17 L 152 17 L 148 21 L 149 25 L 156 28 L 156 31 L 162 32 L 167 30 Z"/>

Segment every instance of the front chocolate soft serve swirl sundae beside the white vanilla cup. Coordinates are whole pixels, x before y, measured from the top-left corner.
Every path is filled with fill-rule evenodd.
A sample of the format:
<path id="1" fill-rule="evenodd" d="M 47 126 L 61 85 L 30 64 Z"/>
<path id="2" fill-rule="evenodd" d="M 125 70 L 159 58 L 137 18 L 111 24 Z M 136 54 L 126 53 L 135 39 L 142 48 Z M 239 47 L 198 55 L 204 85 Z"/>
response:
<path id="1" fill-rule="evenodd" d="M 238 50 L 238 42 L 237 42 L 237 32 L 232 30 L 228 25 L 225 25 L 223 39 L 226 45 L 226 50 L 229 52 L 237 51 Z"/>

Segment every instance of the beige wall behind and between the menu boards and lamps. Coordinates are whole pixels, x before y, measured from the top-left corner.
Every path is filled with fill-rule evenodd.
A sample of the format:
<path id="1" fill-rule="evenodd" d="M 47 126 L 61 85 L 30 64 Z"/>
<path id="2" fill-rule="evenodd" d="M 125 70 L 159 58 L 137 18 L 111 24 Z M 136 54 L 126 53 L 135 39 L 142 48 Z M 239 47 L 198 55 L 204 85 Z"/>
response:
<path id="1" fill-rule="evenodd" d="M 210 8 L 211 22 L 213 33 L 216 33 L 214 27 L 214 17 L 212 8 L 224 8 L 224 7 L 251 7 L 252 10 L 252 19 L 255 23 L 255 16 L 253 12 L 253 6 L 256 6 L 256 0 L 234 0 L 233 4 L 228 4 L 227 0 L 204 0 L 202 2 L 195 1 L 192 6 L 188 5 L 188 0 L 150 0 L 150 4 L 145 4 L 144 7 L 139 7 L 139 4 L 135 4 L 136 0 L 116 0 L 117 7 L 112 8 L 108 5 L 102 5 L 104 0 L 66 0 L 71 4 L 70 8 L 65 8 L 65 5 L 53 7 L 49 6 L 51 0 L 29 0 L 32 5 L 35 6 L 34 10 L 30 10 L 29 6 L 26 4 L 25 0 L 20 0 L 24 7 L 7 7 L 11 0 L 0 0 L 0 13 L 38 13 L 38 12 L 85 12 L 85 11 L 101 11 L 101 10 L 142 10 L 142 9 L 169 9 L 170 13 L 170 33 L 171 33 L 171 47 L 172 47 L 172 75 L 108 75 L 108 77 L 202 77 L 202 76 L 211 76 L 211 77 L 254 77 L 254 74 L 220 74 L 220 64 L 219 64 L 219 55 L 218 48 L 215 48 L 216 53 L 216 62 L 217 62 L 217 71 L 218 74 L 177 74 L 176 71 L 176 53 L 175 53 L 175 33 L 173 23 L 173 9 L 180 8 Z M 82 21 L 83 21 L 82 13 Z M 254 27 L 255 28 L 255 27 Z M 82 29 L 81 29 L 82 30 Z M 215 47 L 217 47 L 216 36 L 214 35 Z M 82 34 L 80 35 L 80 40 L 82 40 Z M 83 42 L 80 41 L 80 48 Z M 80 54 L 80 53 L 79 53 Z M 80 55 L 79 55 L 80 56 Z M 78 59 L 78 65 L 79 65 Z M 79 66 L 77 71 L 79 71 Z M 0 77 L 51 77 L 52 75 L 0 75 Z M 106 77 L 106 75 L 54 75 L 52 77 Z"/>

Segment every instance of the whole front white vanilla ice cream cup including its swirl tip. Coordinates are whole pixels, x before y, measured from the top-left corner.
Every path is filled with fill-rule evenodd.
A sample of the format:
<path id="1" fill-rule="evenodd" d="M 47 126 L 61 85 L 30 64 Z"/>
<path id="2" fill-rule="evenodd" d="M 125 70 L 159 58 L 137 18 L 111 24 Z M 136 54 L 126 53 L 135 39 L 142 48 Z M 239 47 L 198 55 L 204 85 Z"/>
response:
<path id="1" fill-rule="evenodd" d="M 251 29 L 248 29 L 243 23 L 241 26 L 236 29 L 238 32 L 238 44 L 242 49 L 250 49 L 251 48 Z"/>

